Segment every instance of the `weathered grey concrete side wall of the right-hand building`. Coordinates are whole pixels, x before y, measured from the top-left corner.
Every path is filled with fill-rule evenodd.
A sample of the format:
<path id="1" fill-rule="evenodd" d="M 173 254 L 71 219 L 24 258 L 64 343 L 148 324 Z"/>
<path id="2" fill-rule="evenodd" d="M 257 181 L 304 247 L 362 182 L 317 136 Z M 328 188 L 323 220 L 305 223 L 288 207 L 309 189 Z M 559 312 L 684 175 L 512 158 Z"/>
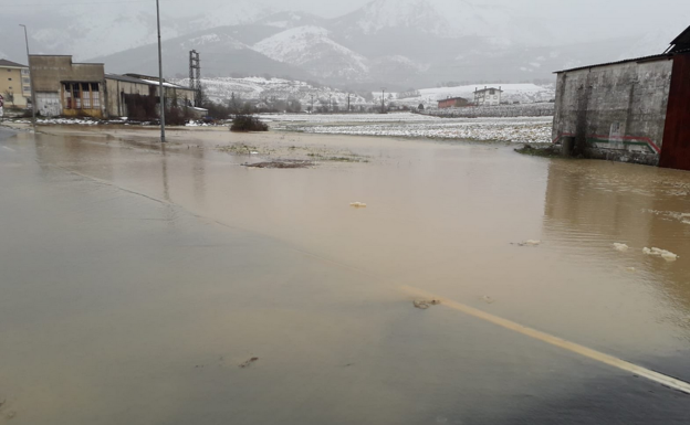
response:
<path id="1" fill-rule="evenodd" d="M 672 73 L 667 57 L 558 74 L 553 139 L 574 155 L 658 164 Z"/>

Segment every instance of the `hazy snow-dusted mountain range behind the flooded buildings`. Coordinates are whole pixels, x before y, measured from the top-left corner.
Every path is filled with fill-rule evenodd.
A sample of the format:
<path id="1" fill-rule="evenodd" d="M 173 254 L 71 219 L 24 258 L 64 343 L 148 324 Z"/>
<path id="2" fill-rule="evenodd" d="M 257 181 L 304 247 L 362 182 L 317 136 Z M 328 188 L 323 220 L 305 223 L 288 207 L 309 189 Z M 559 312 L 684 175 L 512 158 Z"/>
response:
<path id="1" fill-rule="evenodd" d="M 34 19 L 34 52 L 103 62 L 107 72 L 157 73 L 155 10 L 83 9 L 65 6 L 56 17 Z M 330 19 L 241 0 L 163 18 L 166 76 L 186 76 L 196 50 L 206 76 L 270 75 L 352 88 L 553 79 L 557 70 L 651 51 L 659 39 L 573 42 L 529 10 L 464 0 L 374 0 Z M 0 40 L 17 40 L 7 31 L 0 28 Z M 20 59 L 22 44 L 0 42 L 0 51 Z"/>

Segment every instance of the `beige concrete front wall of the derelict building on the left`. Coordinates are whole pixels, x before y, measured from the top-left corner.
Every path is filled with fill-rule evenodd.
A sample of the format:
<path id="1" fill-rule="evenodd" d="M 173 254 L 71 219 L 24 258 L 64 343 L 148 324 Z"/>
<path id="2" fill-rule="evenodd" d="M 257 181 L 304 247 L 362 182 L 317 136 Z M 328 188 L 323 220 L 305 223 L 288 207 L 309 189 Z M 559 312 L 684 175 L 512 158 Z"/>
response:
<path id="1" fill-rule="evenodd" d="M 41 114 L 54 115 L 55 108 L 52 102 L 55 98 L 54 95 L 58 94 L 62 106 L 61 115 L 86 115 L 96 118 L 103 118 L 107 115 L 104 96 L 105 70 L 103 64 L 72 63 L 72 56 L 31 56 L 29 65 L 31 66 L 34 91 L 36 92 L 36 106 Z M 101 107 L 66 109 L 62 86 L 64 82 L 98 83 Z"/>

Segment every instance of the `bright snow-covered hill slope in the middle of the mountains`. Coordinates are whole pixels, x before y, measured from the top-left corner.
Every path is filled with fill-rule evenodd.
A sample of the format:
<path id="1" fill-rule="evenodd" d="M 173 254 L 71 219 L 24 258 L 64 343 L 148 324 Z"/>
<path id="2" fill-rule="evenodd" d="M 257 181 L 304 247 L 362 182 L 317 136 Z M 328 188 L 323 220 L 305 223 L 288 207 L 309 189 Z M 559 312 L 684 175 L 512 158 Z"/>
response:
<path id="1" fill-rule="evenodd" d="M 366 57 L 331 40 L 328 30 L 320 26 L 293 28 L 254 44 L 253 49 L 321 78 L 357 81 L 369 72 Z"/>

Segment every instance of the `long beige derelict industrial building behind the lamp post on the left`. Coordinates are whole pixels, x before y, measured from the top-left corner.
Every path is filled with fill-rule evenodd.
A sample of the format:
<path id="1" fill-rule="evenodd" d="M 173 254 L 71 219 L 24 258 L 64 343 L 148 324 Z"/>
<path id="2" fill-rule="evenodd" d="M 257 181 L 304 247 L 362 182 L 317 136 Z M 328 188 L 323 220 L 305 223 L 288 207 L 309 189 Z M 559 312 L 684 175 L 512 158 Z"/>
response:
<path id="1" fill-rule="evenodd" d="M 69 55 L 31 55 L 30 66 L 38 111 L 45 117 L 111 118 L 128 116 L 134 95 L 150 96 L 159 108 L 159 79 L 144 75 L 106 74 L 100 63 L 74 63 Z M 164 81 L 166 104 L 192 108 L 195 91 Z"/>

